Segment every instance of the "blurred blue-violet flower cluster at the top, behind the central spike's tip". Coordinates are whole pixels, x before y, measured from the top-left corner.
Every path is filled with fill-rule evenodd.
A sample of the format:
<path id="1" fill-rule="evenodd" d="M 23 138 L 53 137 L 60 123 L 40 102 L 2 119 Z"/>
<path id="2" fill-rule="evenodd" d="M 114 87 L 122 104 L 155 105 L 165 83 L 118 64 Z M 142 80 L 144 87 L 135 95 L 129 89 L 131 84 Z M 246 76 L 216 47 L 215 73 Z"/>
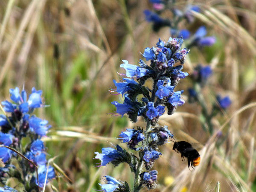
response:
<path id="1" fill-rule="evenodd" d="M 187 23 L 192 23 L 195 20 L 193 12 L 201 12 L 199 6 L 192 6 L 188 4 L 184 10 L 180 10 L 175 7 L 174 0 L 150 0 L 150 3 L 153 5 L 154 12 L 145 10 L 144 14 L 145 19 L 148 22 L 153 23 L 153 29 L 155 31 L 158 31 L 164 26 L 168 26 L 170 27 L 170 33 L 172 36 L 187 39 L 189 41 L 187 47 L 204 47 L 211 46 L 215 43 L 216 40 L 214 36 L 206 36 L 207 30 L 205 26 L 199 27 L 193 35 L 188 29 L 179 28 L 179 23 L 183 20 L 186 20 Z M 161 13 L 166 10 L 172 12 L 172 20 L 160 17 Z"/>

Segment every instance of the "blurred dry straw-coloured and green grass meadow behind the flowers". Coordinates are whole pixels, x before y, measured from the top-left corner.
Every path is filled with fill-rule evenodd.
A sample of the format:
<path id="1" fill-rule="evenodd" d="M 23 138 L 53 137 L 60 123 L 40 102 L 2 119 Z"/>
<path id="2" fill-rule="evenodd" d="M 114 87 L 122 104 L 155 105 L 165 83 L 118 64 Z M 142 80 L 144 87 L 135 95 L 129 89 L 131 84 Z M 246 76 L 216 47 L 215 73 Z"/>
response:
<path id="1" fill-rule="evenodd" d="M 201 164 L 191 172 L 172 143 L 163 146 L 154 165 L 158 186 L 151 191 L 213 192 L 219 181 L 222 192 L 255 192 L 256 1 L 179 0 L 176 6 L 187 2 L 202 9 L 193 13 L 189 29 L 205 25 L 217 41 L 193 47 L 183 71 L 191 74 L 197 64 L 209 64 L 213 74 L 203 89 L 206 102 L 210 106 L 220 94 L 230 96 L 232 105 L 212 119 L 209 135 L 201 126 L 201 107 L 187 102 L 191 79 L 178 85 L 186 103 L 159 124 L 168 125 L 176 140 L 194 143 Z M 57 156 L 59 177 L 46 191 L 54 191 L 51 184 L 59 192 L 94 191 L 105 175 L 133 183 L 128 165 L 94 168 L 99 160 L 93 158 L 111 143 L 124 146 L 115 138 L 126 128 L 145 127 L 142 119 L 133 124 L 127 116 L 108 114 L 115 110 L 110 103 L 122 99 L 108 92 L 113 79 L 121 80 L 116 72 L 124 72 L 122 59 L 137 64 L 145 47 L 170 37 L 168 27 L 153 31 L 145 9 L 152 9 L 148 0 L 0 1 L 0 99 L 9 99 L 9 88 L 24 84 L 26 90 L 43 90 L 49 105 L 37 113 L 52 125 L 44 140 L 48 158 Z"/>

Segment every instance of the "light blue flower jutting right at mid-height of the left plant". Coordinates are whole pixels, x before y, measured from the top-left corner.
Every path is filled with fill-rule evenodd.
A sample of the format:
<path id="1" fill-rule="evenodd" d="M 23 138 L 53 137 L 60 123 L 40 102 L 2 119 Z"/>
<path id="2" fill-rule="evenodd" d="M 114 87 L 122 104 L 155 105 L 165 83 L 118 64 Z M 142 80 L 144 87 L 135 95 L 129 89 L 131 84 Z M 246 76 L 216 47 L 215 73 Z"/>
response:
<path id="1" fill-rule="evenodd" d="M 47 125 L 47 120 L 42 120 L 36 116 L 32 116 L 29 119 L 29 127 L 32 131 L 34 131 L 36 134 L 40 136 L 46 135 L 49 128 L 51 128 L 51 125 Z"/>

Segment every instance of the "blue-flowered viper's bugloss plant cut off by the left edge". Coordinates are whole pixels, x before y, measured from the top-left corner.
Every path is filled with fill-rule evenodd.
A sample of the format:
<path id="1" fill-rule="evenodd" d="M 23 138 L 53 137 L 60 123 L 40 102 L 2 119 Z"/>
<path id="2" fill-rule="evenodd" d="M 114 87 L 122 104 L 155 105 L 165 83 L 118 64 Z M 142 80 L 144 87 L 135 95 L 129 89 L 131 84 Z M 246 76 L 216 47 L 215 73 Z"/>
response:
<path id="1" fill-rule="evenodd" d="M 0 144 L 15 149 L 31 160 L 38 168 L 38 178 L 35 165 L 9 148 L 0 147 L 0 183 L 3 185 L 0 191 L 16 192 L 6 186 L 11 177 L 23 184 L 23 191 L 38 191 L 38 186 L 43 187 L 44 183 L 55 177 L 53 167 L 47 167 L 46 148 L 41 140 L 46 137 L 51 125 L 33 114 L 35 109 L 45 106 L 42 91 L 33 87 L 28 97 L 26 91 L 23 89 L 20 93 L 18 87 L 9 92 L 12 101 L 1 102 L 4 114 L 0 115 Z"/>

